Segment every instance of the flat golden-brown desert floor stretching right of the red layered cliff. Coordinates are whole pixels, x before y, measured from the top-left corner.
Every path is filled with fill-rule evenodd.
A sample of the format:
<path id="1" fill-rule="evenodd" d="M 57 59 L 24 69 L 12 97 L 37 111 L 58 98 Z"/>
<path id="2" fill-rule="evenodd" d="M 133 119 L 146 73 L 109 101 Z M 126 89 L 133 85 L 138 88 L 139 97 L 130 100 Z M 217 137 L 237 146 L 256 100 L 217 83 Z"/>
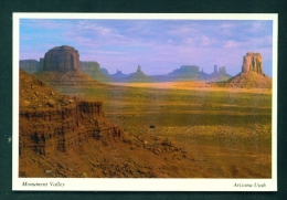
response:
<path id="1" fill-rule="evenodd" d="M 125 143 L 89 141 L 74 152 L 61 165 L 77 172 L 64 177 L 272 177 L 270 90 L 189 82 L 56 90 L 103 101 L 105 116 L 126 131 Z M 164 139 L 170 148 L 162 146 Z"/>

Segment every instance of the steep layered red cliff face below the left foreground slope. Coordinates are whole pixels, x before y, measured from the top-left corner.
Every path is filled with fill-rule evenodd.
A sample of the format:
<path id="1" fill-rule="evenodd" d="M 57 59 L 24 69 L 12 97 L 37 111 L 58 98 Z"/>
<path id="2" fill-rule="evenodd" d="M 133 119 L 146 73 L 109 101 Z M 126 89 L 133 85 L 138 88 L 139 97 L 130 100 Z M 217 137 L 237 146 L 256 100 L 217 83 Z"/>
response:
<path id="1" fill-rule="evenodd" d="M 104 118 L 100 102 L 79 102 L 60 109 L 20 112 L 20 155 L 68 151 L 88 138 L 120 137 L 121 129 Z"/>

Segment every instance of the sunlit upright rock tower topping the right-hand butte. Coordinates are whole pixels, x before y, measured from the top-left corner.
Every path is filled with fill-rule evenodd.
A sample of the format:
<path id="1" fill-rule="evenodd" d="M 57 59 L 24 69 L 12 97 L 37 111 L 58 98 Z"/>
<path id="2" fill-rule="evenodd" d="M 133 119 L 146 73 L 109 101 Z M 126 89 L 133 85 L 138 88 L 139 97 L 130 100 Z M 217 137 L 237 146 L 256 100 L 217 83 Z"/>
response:
<path id="1" fill-rule="evenodd" d="M 256 72 L 258 74 L 263 74 L 263 62 L 262 55 L 259 53 L 248 52 L 243 57 L 242 72 Z"/>

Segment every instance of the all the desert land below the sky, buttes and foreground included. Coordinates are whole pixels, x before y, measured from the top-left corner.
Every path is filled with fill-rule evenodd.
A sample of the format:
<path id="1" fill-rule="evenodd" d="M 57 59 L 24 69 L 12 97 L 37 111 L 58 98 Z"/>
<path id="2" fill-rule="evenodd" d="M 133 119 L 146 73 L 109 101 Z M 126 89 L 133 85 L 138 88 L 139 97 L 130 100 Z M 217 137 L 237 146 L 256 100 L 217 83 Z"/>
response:
<path id="1" fill-rule="evenodd" d="M 20 61 L 19 177 L 272 178 L 272 78 L 259 53 L 233 77 L 138 66 L 115 78 L 78 57 L 64 45 L 38 65 Z M 178 73 L 187 69 L 191 80 Z"/>

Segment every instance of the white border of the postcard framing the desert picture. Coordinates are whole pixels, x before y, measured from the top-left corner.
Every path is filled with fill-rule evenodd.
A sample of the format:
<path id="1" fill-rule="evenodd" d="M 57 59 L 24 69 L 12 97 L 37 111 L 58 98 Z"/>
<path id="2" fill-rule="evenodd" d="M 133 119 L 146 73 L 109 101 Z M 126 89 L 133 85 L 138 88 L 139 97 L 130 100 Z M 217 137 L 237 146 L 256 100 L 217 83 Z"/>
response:
<path id="1" fill-rule="evenodd" d="M 19 178 L 19 53 L 20 19 L 146 19 L 146 20 L 273 20 L 272 179 L 146 179 L 146 178 Z M 49 191 L 277 191 L 277 41 L 278 14 L 190 13 L 13 13 L 12 190 Z M 24 187 L 23 182 L 47 183 Z M 61 182 L 64 187 L 51 187 Z M 234 185 L 251 187 L 234 187 Z M 265 183 L 266 187 L 258 187 Z M 62 185 L 63 186 L 63 185 Z"/>

